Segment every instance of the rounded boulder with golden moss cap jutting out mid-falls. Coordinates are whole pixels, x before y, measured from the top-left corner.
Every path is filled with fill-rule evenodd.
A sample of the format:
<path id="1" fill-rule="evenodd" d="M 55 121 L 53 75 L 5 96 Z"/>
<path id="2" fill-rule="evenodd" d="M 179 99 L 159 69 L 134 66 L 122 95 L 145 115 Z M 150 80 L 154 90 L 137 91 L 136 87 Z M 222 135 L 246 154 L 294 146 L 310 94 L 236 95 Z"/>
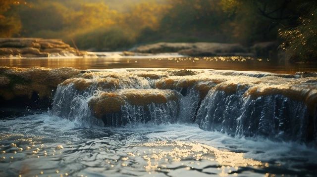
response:
<path id="1" fill-rule="evenodd" d="M 132 114 L 139 114 L 139 119 L 143 119 L 142 121 L 145 122 L 152 119 L 152 114 L 157 114 L 158 117 L 164 116 L 161 113 L 166 112 L 166 109 L 171 109 L 167 103 L 175 103 L 178 99 L 178 94 L 172 90 L 124 89 L 117 92 L 102 92 L 90 100 L 89 106 L 93 115 L 102 119 L 105 125 L 114 125 L 114 122 L 118 125 L 125 125 L 129 121 L 122 121 L 122 117 L 129 119 L 128 117 L 135 116 Z M 131 108 L 134 110 L 134 106 L 139 109 L 137 113 L 129 111 Z M 153 108 L 156 110 L 151 111 Z M 162 112 L 157 112 L 159 109 Z M 177 110 L 174 110 L 174 112 L 177 112 Z M 174 113 L 170 112 L 170 114 Z M 165 116 L 168 115 L 167 113 Z M 176 116 L 171 117 L 176 118 Z"/>

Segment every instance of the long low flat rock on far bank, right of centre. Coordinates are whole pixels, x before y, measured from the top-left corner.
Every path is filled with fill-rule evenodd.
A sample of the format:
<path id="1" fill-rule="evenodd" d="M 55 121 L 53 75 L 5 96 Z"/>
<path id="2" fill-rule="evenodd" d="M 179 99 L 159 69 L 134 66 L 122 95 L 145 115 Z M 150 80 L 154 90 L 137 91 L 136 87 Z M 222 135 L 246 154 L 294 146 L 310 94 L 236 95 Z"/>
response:
<path id="1" fill-rule="evenodd" d="M 247 48 L 241 44 L 223 43 L 157 43 L 139 46 L 133 51 L 140 53 L 178 52 L 189 56 L 253 55 L 247 53 Z"/>

